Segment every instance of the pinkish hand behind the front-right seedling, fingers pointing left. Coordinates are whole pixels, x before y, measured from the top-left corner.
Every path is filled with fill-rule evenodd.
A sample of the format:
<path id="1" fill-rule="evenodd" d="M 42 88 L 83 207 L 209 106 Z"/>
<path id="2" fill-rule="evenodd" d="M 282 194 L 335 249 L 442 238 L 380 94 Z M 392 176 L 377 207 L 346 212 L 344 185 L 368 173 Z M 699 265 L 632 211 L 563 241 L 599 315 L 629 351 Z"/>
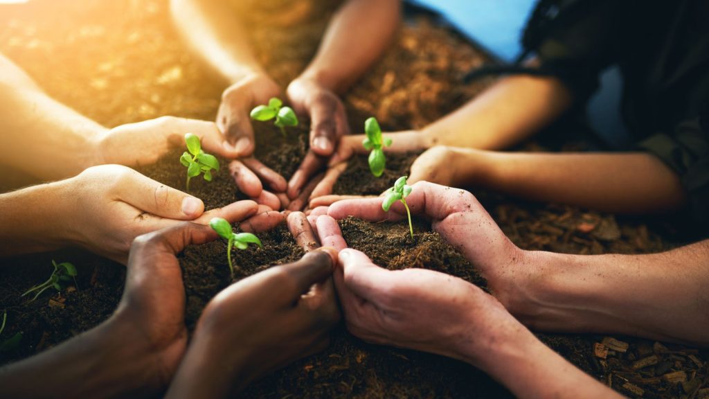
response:
<path id="1" fill-rule="evenodd" d="M 515 281 L 523 278 L 524 273 L 519 271 L 525 263 L 525 251 L 505 236 L 470 192 L 430 182 L 418 182 L 412 187 L 411 195 L 406 197 L 411 214 L 430 219 L 433 231 L 481 270 L 493 294 L 507 303 L 503 298 L 509 297 Z M 328 215 L 335 219 L 354 216 L 372 222 L 406 219 L 401 202 L 384 212 L 383 201 L 383 197 L 373 197 L 335 202 L 330 205 Z"/>

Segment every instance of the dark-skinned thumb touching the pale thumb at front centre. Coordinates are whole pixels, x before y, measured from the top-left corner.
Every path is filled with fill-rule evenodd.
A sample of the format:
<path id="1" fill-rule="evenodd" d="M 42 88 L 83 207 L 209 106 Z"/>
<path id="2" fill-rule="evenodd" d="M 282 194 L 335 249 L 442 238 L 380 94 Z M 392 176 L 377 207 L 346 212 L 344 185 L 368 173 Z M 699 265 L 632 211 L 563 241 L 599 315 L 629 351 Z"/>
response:
<path id="1" fill-rule="evenodd" d="M 300 297 L 307 293 L 313 284 L 330 277 L 336 261 L 335 251 L 319 248 L 306 253 L 300 261 L 279 267 L 293 279 L 294 292 L 291 292 L 291 295 Z"/>

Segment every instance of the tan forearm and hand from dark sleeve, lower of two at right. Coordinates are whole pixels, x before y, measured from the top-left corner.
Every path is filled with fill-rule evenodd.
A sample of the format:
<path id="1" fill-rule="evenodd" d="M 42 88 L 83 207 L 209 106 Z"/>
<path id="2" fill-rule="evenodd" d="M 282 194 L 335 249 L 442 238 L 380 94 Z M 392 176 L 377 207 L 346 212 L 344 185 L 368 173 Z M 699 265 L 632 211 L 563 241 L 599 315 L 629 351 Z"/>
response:
<path id="1" fill-rule="evenodd" d="M 647 153 L 502 153 L 435 147 L 411 166 L 411 182 L 421 180 L 625 214 L 671 212 L 686 202 L 679 176 Z"/>

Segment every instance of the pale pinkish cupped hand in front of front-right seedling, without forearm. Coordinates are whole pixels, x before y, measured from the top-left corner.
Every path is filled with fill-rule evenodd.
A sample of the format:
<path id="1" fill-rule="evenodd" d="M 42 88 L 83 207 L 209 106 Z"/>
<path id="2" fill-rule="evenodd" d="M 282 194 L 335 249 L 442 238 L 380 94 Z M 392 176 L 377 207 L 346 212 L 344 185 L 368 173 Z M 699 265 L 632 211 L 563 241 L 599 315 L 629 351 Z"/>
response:
<path id="1" fill-rule="evenodd" d="M 346 248 L 328 215 L 318 217 L 317 231 L 323 245 L 340 250 L 337 297 L 347 329 L 365 341 L 479 364 L 496 339 L 523 329 L 498 300 L 465 280 L 433 270 L 380 268 Z"/>

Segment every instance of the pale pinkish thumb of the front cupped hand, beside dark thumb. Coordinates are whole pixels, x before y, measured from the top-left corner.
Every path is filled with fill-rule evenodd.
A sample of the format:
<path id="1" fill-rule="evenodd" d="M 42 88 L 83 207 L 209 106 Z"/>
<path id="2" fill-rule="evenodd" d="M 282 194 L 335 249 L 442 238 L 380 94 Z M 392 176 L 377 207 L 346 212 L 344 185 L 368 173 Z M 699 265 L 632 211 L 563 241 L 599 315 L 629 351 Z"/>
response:
<path id="1" fill-rule="evenodd" d="M 347 289 L 376 305 L 387 290 L 391 271 L 376 266 L 369 256 L 352 248 L 340 251 L 338 259 Z"/>

